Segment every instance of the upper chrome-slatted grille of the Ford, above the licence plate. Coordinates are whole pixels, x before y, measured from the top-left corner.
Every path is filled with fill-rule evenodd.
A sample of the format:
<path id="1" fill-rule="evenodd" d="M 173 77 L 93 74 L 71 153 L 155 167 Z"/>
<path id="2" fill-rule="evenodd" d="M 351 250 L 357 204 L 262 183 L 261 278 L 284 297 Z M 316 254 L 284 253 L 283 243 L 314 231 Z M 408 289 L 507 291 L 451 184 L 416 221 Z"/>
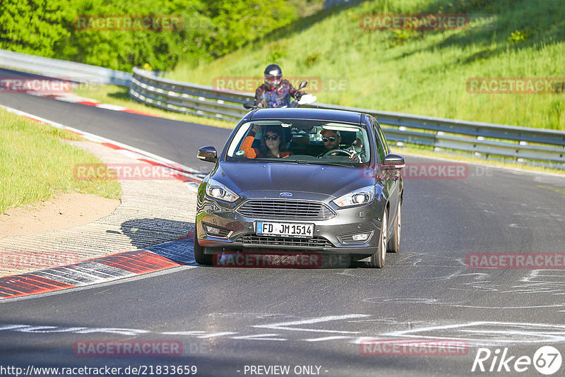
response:
<path id="1" fill-rule="evenodd" d="M 327 220 L 335 216 L 324 203 L 285 199 L 251 199 L 243 203 L 237 212 L 246 217 L 279 220 Z"/>

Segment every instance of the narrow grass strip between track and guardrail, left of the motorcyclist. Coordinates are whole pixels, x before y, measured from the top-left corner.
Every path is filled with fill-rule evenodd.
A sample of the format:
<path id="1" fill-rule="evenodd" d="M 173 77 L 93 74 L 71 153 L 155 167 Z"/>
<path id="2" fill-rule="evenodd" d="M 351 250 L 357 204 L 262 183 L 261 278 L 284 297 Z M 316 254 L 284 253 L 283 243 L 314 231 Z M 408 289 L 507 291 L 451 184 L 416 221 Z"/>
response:
<path id="1" fill-rule="evenodd" d="M 229 121 L 221 121 L 216 119 L 204 118 L 191 114 L 182 114 L 179 112 L 168 112 L 164 109 L 151 107 L 136 100 L 129 95 L 129 88 L 117 85 L 88 85 L 73 90 L 77 95 L 88 97 L 92 100 L 107 104 L 117 104 L 118 106 L 128 107 L 129 109 L 145 112 L 165 119 L 173 119 L 176 121 L 186 121 L 190 123 L 207 124 L 208 126 L 216 126 L 222 128 L 233 129 L 237 123 Z"/>

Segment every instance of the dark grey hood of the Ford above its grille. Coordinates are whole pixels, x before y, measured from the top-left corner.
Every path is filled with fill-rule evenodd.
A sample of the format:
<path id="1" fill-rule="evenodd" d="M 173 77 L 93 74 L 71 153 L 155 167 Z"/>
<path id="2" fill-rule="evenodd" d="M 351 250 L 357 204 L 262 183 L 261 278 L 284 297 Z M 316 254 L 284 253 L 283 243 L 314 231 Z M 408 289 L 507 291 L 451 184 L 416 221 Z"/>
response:
<path id="1" fill-rule="evenodd" d="M 290 162 L 220 162 L 212 178 L 244 197 L 261 191 L 338 197 L 374 185 L 362 168 Z"/>

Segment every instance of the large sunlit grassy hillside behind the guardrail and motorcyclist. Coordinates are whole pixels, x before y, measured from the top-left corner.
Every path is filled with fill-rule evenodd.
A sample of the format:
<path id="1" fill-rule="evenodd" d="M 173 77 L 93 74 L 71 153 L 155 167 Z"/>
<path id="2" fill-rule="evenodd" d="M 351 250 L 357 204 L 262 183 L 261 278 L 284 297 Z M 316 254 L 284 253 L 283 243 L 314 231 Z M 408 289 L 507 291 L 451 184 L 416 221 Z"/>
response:
<path id="1" fill-rule="evenodd" d="M 367 13 L 489 14 L 496 26 L 368 31 L 359 27 Z M 167 77 L 215 85 L 218 77 L 261 76 L 275 61 L 285 76 L 345 80 L 343 90 L 317 92 L 318 102 L 565 130 L 565 92 L 472 94 L 466 88 L 473 77 L 565 78 L 563 30 L 562 0 L 366 1 L 298 20 L 210 64 L 181 63 Z"/>

